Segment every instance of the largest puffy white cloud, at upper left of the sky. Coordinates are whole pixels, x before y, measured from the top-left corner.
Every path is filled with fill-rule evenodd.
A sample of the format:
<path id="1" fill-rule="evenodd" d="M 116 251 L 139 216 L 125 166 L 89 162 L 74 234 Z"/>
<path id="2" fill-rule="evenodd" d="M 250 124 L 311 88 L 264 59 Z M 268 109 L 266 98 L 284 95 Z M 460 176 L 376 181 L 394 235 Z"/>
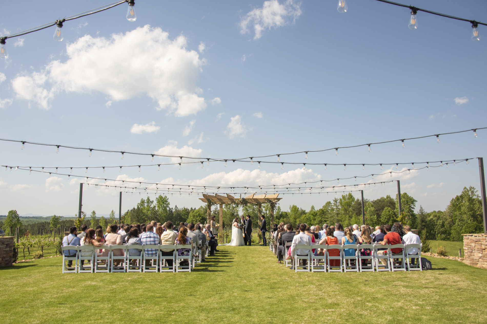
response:
<path id="1" fill-rule="evenodd" d="M 196 86 L 204 61 L 186 50 L 187 39 L 173 40 L 149 25 L 110 38 L 85 35 L 66 45 L 68 60 L 51 61 L 41 72 L 19 75 L 12 81 L 19 98 L 44 109 L 60 91 L 99 91 L 112 101 L 147 95 L 177 117 L 206 108 Z"/>

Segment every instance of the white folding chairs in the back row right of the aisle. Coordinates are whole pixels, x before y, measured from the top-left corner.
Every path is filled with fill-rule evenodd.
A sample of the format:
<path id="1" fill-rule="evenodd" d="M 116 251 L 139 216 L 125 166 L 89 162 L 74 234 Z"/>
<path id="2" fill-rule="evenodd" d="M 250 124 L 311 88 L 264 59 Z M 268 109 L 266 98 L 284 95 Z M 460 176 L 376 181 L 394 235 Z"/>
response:
<path id="1" fill-rule="evenodd" d="M 294 256 L 294 270 L 295 272 L 365 272 L 365 271 L 412 271 L 412 270 L 419 270 L 422 271 L 422 263 L 421 263 L 421 247 L 423 244 L 347 244 L 347 245 L 296 245 L 296 250 L 306 250 L 307 254 L 303 256 Z M 286 251 L 287 248 L 291 246 L 291 242 L 286 242 Z M 393 254 L 392 249 L 394 248 L 401 248 L 402 252 L 400 254 Z M 418 253 L 415 255 L 410 255 L 408 253 L 408 249 L 410 248 L 417 248 Z M 312 252 L 313 249 L 323 249 L 324 255 L 323 256 L 315 256 Z M 345 250 L 353 249 L 354 253 L 352 256 L 346 256 Z M 370 256 L 361 256 L 360 249 L 370 249 L 371 255 Z M 387 254 L 379 254 L 380 250 L 387 251 Z M 333 251 L 333 254 L 336 254 L 336 250 L 338 250 L 338 256 L 330 256 L 330 250 Z M 348 250 L 350 251 L 350 250 Z M 348 254 L 348 253 L 347 253 Z M 410 259 L 417 259 L 415 265 L 412 265 Z M 301 262 L 305 262 L 306 266 L 300 266 Z M 330 264 L 330 260 L 339 260 L 339 265 Z M 381 262 L 384 260 L 386 263 L 385 265 Z M 322 263 L 321 263 L 322 262 Z M 362 264 L 364 263 L 364 264 Z M 290 260 L 286 258 L 285 266 L 291 266 Z M 302 269 L 298 270 L 298 267 Z"/>

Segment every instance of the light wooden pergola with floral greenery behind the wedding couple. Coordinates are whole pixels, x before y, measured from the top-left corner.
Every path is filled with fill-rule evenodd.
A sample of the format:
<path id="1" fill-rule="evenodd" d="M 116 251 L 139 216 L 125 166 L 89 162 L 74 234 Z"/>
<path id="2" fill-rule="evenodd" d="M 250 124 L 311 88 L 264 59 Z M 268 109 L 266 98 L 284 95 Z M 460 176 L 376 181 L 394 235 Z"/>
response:
<path id="1" fill-rule="evenodd" d="M 251 194 L 249 196 L 244 197 L 244 200 L 247 203 L 257 204 L 258 206 L 257 218 L 259 220 L 259 225 L 262 225 L 262 204 L 268 203 L 269 201 L 278 202 L 282 199 L 282 198 L 278 198 L 278 196 L 279 193 L 272 194 L 272 195 L 268 195 L 264 193 L 262 195 Z M 210 200 L 215 205 L 220 205 L 220 232 L 223 232 L 223 205 L 233 204 L 241 199 L 242 199 L 242 194 L 240 195 L 240 198 L 235 198 L 229 194 L 226 194 L 226 196 L 222 196 L 219 194 L 215 194 L 214 196 L 203 194 L 203 198 L 200 198 L 200 200 L 205 203 L 207 202 L 207 200 Z M 274 223 L 274 207 L 272 206 L 271 206 L 270 213 L 271 213 L 271 222 Z M 207 215 L 211 215 L 211 206 L 208 206 Z M 208 223 L 211 223 L 211 219 L 208 220 Z"/>

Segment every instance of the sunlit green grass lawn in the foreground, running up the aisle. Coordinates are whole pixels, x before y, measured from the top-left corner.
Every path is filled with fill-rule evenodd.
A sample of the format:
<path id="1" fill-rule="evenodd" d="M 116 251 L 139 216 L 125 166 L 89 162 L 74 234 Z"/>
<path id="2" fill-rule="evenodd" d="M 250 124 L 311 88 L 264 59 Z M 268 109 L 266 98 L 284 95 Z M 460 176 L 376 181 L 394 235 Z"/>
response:
<path id="1" fill-rule="evenodd" d="M 220 246 L 192 273 L 0 268 L 2 323 L 486 323 L 487 270 L 294 273 L 261 246 Z"/>

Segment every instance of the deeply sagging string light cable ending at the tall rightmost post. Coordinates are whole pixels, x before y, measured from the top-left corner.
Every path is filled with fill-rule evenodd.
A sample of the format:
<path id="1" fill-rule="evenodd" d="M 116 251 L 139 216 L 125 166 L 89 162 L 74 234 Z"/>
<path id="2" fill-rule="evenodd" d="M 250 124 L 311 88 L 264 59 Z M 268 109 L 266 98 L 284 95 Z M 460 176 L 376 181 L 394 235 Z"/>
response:
<path id="1" fill-rule="evenodd" d="M 468 164 L 468 161 L 471 160 L 472 158 L 467 158 L 467 159 L 460 159 L 460 160 L 452 160 L 454 161 L 453 164 L 456 165 L 456 163 L 460 163 L 460 162 L 466 162 L 466 164 Z M 225 186 L 194 186 L 194 185 L 181 185 L 181 184 L 164 184 L 164 183 L 159 183 L 159 182 L 147 182 L 147 181 L 135 181 L 135 180 L 118 180 L 118 179 L 104 179 L 104 178 L 99 178 L 99 177 L 90 177 L 90 176 L 82 176 L 82 175 L 73 175 L 73 174 L 63 174 L 63 173 L 55 173 L 55 172 L 47 172 L 47 171 L 44 171 L 44 170 L 32 170 L 32 169 L 27 169 L 27 168 L 22 168 L 22 167 L 14 167 L 14 166 L 2 166 L 5 168 L 5 171 L 7 171 L 9 168 L 10 168 L 10 171 L 12 170 L 22 170 L 22 171 L 29 171 L 29 173 L 31 173 L 32 171 L 34 172 L 40 172 L 40 173 L 48 173 L 49 176 L 51 176 L 51 174 L 54 174 L 54 175 L 65 175 L 65 176 L 68 176 L 69 177 L 76 177 L 76 178 L 85 178 L 87 179 L 87 181 L 89 179 L 94 179 L 94 180 L 105 180 L 105 181 L 113 181 L 113 182 L 121 182 L 122 184 L 124 184 L 125 182 L 127 183 L 134 183 L 134 184 L 139 184 L 139 186 L 142 186 L 142 184 L 144 185 L 156 185 L 156 189 L 157 189 L 157 186 L 170 186 L 172 188 L 174 188 L 174 186 L 176 186 L 177 188 L 190 188 L 190 187 L 194 187 L 194 189 L 199 189 L 199 190 L 205 190 L 208 189 L 208 190 L 215 190 L 215 189 L 243 189 L 243 190 L 246 190 L 248 191 L 249 189 L 260 189 L 262 191 L 262 189 L 269 189 L 270 187 L 278 187 L 279 189 L 283 189 L 283 188 L 287 188 L 288 189 L 295 189 L 296 187 L 293 187 L 293 186 L 299 186 L 299 185 L 304 185 L 303 187 L 299 187 L 299 188 L 303 188 L 303 189 L 318 189 L 318 188 L 329 188 L 329 187 L 323 187 L 323 186 L 319 186 L 319 187 L 308 187 L 308 185 L 310 184 L 316 184 L 316 183 L 323 183 L 323 182 L 333 182 L 333 181 L 337 181 L 338 183 L 340 182 L 340 180 L 351 180 L 351 179 L 354 179 L 356 181 L 357 178 L 368 178 L 368 177 L 372 177 L 374 179 L 375 176 L 381 176 L 381 175 L 386 175 L 386 174 L 389 174 L 390 176 L 394 174 L 399 174 L 399 173 L 403 173 L 403 172 L 406 172 L 408 171 L 409 173 L 411 173 L 411 171 L 419 171 L 419 170 L 423 170 L 423 169 L 427 169 L 428 171 L 430 170 L 430 168 L 439 168 L 439 167 L 443 167 L 444 165 L 446 165 L 446 167 L 448 168 L 448 164 L 451 164 L 451 162 L 447 162 L 447 163 L 441 163 L 439 165 L 430 165 L 430 163 L 428 162 L 428 164 L 422 168 L 412 168 L 412 169 L 404 169 L 404 170 L 401 170 L 401 171 L 385 171 L 383 173 L 372 173 L 372 174 L 369 174 L 369 175 L 364 175 L 364 176 L 352 176 L 352 177 L 348 177 L 348 178 L 336 178 L 336 179 L 331 179 L 331 180 L 317 180 L 317 181 L 304 181 L 304 182 L 300 182 L 300 183 L 287 183 L 287 184 L 282 184 L 282 185 L 259 185 L 259 186 L 245 186 L 245 187 L 240 187 L 240 186 L 235 186 L 235 187 L 225 187 Z M 346 186 L 358 186 L 358 185 L 346 185 Z M 123 187 L 123 186 L 122 186 Z M 333 188 L 337 187 L 337 186 L 332 186 Z M 147 187 L 146 187 L 147 188 Z M 274 190 L 273 190 L 274 191 Z M 265 192 L 273 192 L 273 191 L 265 191 Z"/>

